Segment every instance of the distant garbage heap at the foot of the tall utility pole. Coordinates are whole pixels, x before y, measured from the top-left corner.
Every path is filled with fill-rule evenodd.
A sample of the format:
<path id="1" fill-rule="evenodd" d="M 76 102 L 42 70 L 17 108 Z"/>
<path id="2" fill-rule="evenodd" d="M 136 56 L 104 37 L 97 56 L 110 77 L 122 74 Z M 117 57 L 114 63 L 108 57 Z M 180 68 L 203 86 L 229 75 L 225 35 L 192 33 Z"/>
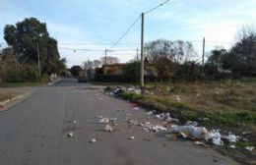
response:
<path id="1" fill-rule="evenodd" d="M 104 92 L 107 95 L 110 95 L 113 97 L 119 97 L 123 93 L 141 94 L 142 89 L 140 86 L 114 86 L 114 87 L 107 86 Z"/>

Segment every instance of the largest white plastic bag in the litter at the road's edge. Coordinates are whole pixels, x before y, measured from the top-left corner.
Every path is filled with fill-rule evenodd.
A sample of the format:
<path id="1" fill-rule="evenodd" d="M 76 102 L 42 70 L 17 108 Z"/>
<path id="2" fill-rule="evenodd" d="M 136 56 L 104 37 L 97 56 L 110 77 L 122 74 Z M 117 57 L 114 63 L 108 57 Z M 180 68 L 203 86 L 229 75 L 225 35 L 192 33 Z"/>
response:
<path id="1" fill-rule="evenodd" d="M 204 127 L 177 126 L 172 128 L 173 133 L 186 133 L 190 138 L 206 139 L 210 133 Z"/>

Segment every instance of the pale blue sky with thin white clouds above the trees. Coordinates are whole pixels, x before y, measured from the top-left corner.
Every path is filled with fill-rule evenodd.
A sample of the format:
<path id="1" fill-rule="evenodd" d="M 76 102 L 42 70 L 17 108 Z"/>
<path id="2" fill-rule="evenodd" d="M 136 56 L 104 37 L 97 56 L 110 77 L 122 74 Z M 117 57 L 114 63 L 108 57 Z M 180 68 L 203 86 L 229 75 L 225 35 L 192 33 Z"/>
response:
<path id="1" fill-rule="evenodd" d="M 5 25 L 35 17 L 46 23 L 50 35 L 57 39 L 60 56 L 67 59 L 67 66 L 82 65 L 103 57 L 101 50 L 109 49 L 142 12 L 163 1 L 0 0 L 0 43 L 5 42 Z M 145 16 L 145 42 L 159 38 L 191 41 L 200 59 L 203 37 L 207 51 L 216 46 L 228 49 L 237 40 L 237 30 L 256 23 L 255 9 L 256 0 L 170 0 Z M 132 51 L 108 51 L 107 55 L 120 62 L 134 59 L 140 36 L 139 21 L 112 48 Z"/>

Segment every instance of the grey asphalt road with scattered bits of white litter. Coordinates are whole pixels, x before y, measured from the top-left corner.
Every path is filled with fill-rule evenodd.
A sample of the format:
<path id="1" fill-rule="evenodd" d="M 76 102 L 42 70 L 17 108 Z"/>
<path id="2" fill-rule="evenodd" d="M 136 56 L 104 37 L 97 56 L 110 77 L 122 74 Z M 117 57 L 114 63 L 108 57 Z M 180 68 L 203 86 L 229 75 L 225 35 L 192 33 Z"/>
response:
<path id="1" fill-rule="evenodd" d="M 96 115 L 116 117 L 114 132 L 104 132 Z M 147 133 L 128 124 L 130 119 L 160 124 L 89 83 L 64 80 L 34 88 L 27 99 L 0 112 L 0 165 L 237 164 L 211 148 Z M 73 138 L 66 137 L 69 132 Z"/>

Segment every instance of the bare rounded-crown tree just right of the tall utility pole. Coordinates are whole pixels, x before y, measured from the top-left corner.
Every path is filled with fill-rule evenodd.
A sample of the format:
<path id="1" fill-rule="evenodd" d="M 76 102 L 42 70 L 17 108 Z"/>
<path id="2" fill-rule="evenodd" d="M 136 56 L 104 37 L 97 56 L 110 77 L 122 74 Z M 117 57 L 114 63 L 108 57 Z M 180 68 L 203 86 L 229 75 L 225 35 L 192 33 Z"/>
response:
<path id="1" fill-rule="evenodd" d="M 155 64 L 160 80 L 172 77 L 180 64 L 197 55 L 192 43 L 182 40 L 154 40 L 146 43 L 145 51 L 147 59 Z"/>

